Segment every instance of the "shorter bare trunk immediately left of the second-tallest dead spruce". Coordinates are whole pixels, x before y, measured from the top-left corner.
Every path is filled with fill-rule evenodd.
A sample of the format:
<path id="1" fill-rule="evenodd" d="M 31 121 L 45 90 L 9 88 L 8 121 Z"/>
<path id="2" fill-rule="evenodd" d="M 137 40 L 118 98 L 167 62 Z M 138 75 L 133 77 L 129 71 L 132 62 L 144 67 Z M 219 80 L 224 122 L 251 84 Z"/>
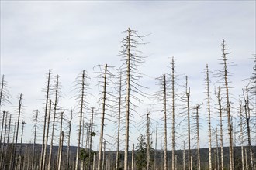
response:
<path id="1" fill-rule="evenodd" d="M 222 106 L 221 106 L 221 95 L 220 95 L 220 87 L 217 94 L 218 104 L 219 104 L 219 112 L 220 112 L 220 160 L 221 160 L 221 170 L 224 169 L 224 159 L 223 159 L 223 125 L 222 125 Z"/>

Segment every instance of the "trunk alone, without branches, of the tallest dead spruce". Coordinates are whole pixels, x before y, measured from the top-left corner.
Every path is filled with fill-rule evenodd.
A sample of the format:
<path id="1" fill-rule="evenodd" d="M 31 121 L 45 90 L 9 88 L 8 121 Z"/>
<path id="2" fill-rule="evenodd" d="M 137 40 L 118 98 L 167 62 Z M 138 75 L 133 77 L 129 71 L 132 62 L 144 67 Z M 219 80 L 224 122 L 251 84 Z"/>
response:
<path id="1" fill-rule="evenodd" d="M 129 121 L 130 121 L 130 48 L 131 48 L 131 30 L 128 29 L 128 40 L 127 40 L 127 77 L 126 77 L 126 138 L 125 138 L 125 150 L 124 150 L 124 170 L 128 170 L 128 150 L 129 150 Z M 98 169 L 99 170 L 99 169 Z"/>

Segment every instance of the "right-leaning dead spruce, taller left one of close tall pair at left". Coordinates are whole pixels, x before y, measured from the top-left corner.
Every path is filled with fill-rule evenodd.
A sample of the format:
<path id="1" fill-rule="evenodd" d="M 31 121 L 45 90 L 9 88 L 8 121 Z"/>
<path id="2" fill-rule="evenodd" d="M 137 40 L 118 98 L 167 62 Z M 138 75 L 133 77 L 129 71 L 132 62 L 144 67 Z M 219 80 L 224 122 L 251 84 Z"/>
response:
<path id="1" fill-rule="evenodd" d="M 41 149 L 41 157 L 40 157 L 40 170 L 44 169 L 43 165 L 43 155 L 44 155 L 44 148 L 45 148 L 45 133 L 46 133 L 46 126 L 47 126 L 47 110 L 48 110 L 48 104 L 50 100 L 50 75 L 51 71 L 49 70 L 49 73 L 47 75 L 47 87 L 46 89 L 43 89 L 43 91 L 46 91 L 46 101 L 45 101 L 45 107 L 44 107 L 44 121 L 43 121 L 43 139 L 42 139 L 42 149 Z"/>

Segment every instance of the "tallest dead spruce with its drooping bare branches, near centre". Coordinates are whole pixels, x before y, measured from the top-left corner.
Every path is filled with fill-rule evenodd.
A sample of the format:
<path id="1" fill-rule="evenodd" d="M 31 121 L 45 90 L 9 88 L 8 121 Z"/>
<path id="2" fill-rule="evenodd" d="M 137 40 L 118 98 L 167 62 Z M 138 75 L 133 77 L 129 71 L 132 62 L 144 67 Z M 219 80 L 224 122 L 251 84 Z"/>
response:
<path id="1" fill-rule="evenodd" d="M 124 170 L 128 169 L 128 151 L 129 151 L 129 130 L 130 130 L 130 116 L 133 115 L 132 109 L 133 107 L 137 107 L 135 102 L 141 100 L 137 97 L 136 94 L 141 94 L 142 91 L 140 90 L 140 83 L 138 80 L 141 78 L 141 74 L 139 73 L 138 68 L 142 66 L 144 63 L 144 57 L 138 56 L 137 46 L 140 45 L 140 40 L 143 36 L 137 35 L 137 32 L 128 29 L 124 33 L 127 34 L 125 38 L 122 40 L 122 50 L 120 51 L 119 55 L 123 58 L 123 66 L 126 70 L 123 72 L 126 82 L 126 136 L 125 136 L 125 151 L 124 151 Z M 123 67 L 121 66 L 121 67 Z M 133 102 L 132 102 L 133 101 Z"/>

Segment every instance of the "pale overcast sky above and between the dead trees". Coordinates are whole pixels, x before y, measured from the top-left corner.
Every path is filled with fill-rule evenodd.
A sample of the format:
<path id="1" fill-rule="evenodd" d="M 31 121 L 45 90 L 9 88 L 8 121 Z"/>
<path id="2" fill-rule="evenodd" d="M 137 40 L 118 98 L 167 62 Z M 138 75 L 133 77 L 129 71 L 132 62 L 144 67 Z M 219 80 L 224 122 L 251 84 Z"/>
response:
<path id="1" fill-rule="evenodd" d="M 174 56 L 176 73 L 189 76 L 192 104 L 202 103 L 202 72 L 206 63 L 212 71 L 221 68 L 222 39 L 236 64 L 230 68 L 235 98 L 246 85 L 242 80 L 251 76 L 250 58 L 256 53 L 255 1 L 1 1 L 1 75 L 6 76 L 12 105 L 18 105 L 19 93 L 24 94 L 25 140 L 31 140 L 33 110 L 43 110 L 47 71 L 61 76 L 61 102 L 66 109 L 73 107 L 75 77 L 85 69 L 93 78 L 92 68 L 98 64 L 120 66 L 120 41 L 126 36 L 122 32 L 129 27 L 149 35 L 144 38 L 149 43 L 139 47 L 148 56 L 141 68 L 147 75 L 142 80 L 149 87 L 147 92 L 158 89 L 154 78 L 170 72 L 168 63 Z M 98 87 L 91 85 L 96 96 Z M 95 105 L 92 102 L 91 107 Z M 4 109 L 14 111 L 9 104 Z M 147 106 L 142 110 L 147 112 Z M 202 131 L 202 138 L 206 136 Z M 137 137 L 138 133 L 132 137 L 134 143 Z M 76 140 L 74 136 L 72 145 Z M 202 141 L 202 147 L 207 147 L 207 140 Z"/>

